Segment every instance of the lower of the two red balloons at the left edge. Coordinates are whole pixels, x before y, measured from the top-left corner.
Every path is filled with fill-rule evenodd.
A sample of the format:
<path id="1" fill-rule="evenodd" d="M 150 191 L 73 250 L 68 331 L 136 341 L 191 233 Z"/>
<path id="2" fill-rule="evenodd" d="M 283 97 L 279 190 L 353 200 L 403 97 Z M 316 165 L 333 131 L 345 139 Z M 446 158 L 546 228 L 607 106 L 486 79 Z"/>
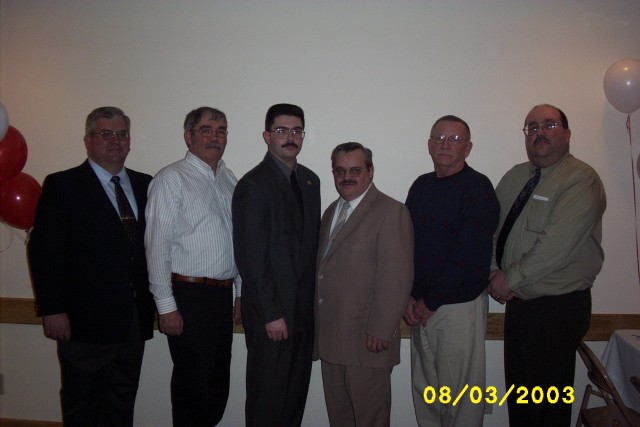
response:
<path id="1" fill-rule="evenodd" d="M 42 187 L 38 181 L 20 172 L 12 180 L 0 185 L 0 219 L 22 230 L 33 227 L 40 193 Z"/>

